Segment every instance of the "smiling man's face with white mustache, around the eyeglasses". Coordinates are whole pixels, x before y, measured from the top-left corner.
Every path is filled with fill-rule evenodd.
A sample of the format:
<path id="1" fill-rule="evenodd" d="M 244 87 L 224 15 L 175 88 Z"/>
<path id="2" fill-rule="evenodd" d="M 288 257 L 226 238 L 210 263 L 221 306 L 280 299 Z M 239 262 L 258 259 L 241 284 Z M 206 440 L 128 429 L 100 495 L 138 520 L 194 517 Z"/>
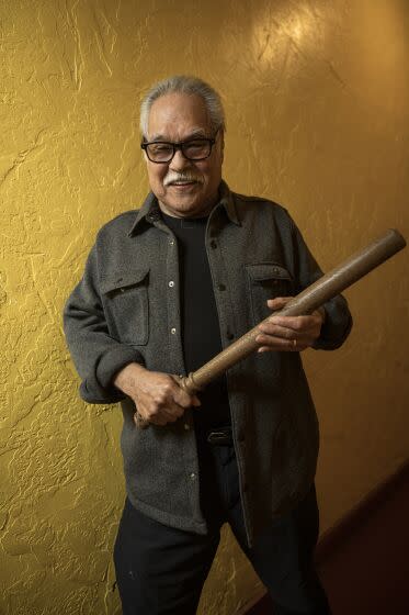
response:
<path id="1" fill-rule="evenodd" d="M 147 141 L 178 143 L 213 138 L 205 103 L 198 96 L 170 93 L 150 108 Z M 160 209 L 177 217 L 206 215 L 217 202 L 221 180 L 223 133 L 219 131 L 211 156 L 188 160 L 178 149 L 170 163 L 156 164 L 146 157 L 149 185 Z"/>

